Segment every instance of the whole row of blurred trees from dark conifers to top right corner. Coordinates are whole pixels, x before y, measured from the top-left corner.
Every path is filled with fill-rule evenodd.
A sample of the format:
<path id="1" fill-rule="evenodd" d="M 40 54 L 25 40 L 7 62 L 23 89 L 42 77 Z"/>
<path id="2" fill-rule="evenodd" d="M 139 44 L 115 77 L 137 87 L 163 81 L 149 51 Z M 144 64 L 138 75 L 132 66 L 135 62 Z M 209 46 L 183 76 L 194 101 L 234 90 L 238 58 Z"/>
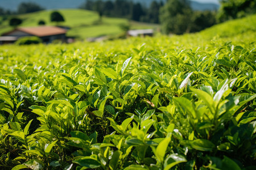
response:
<path id="1" fill-rule="evenodd" d="M 198 32 L 216 23 L 256 13 L 256 0 L 222 0 L 218 11 L 193 11 L 188 0 L 152 1 L 149 7 L 125 0 L 86 0 L 80 8 L 97 11 L 100 18 L 122 17 L 147 23 L 160 23 L 162 32 Z"/>

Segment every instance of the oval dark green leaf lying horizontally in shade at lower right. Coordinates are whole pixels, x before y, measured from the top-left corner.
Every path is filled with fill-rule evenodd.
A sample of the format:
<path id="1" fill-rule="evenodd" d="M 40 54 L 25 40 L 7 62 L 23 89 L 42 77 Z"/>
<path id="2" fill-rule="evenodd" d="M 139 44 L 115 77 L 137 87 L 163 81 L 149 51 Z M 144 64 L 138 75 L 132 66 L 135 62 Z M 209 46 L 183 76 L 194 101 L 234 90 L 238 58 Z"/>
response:
<path id="1" fill-rule="evenodd" d="M 207 139 L 196 139 L 191 142 L 191 147 L 199 151 L 212 151 L 215 145 Z"/>

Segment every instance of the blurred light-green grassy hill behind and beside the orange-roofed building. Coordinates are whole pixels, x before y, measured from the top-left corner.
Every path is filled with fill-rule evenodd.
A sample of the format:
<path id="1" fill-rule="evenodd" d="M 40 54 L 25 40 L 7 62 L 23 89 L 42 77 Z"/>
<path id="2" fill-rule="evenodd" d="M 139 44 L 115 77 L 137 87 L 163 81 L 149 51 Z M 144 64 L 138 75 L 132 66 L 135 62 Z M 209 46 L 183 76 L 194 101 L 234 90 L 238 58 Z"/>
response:
<path id="1" fill-rule="evenodd" d="M 76 36 L 80 39 L 104 35 L 118 35 L 119 33 L 122 33 L 122 29 L 119 25 L 129 24 L 127 19 L 109 17 L 103 17 L 102 23 L 99 23 L 98 14 L 93 11 L 80 9 L 63 9 L 58 11 L 65 19 L 65 22 L 59 23 L 59 25 L 71 27 L 72 29 L 68 31 L 67 35 Z M 19 15 L 18 17 L 23 19 L 23 23 L 20 27 L 36 26 L 38 25 L 39 20 L 44 20 L 47 25 L 56 25 L 56 23 L 51 23 L 50 21 L 51 12 L 52 10 L 46 10 Z M 158 27 L 158 25 L 131 22 L 131 28 L 133 29 L 154 27 Z M 0 34 L 10 31 L 11 29 L 13 28 L 8 25 L 8 20 L 5 20 L 0 24 Z"/>

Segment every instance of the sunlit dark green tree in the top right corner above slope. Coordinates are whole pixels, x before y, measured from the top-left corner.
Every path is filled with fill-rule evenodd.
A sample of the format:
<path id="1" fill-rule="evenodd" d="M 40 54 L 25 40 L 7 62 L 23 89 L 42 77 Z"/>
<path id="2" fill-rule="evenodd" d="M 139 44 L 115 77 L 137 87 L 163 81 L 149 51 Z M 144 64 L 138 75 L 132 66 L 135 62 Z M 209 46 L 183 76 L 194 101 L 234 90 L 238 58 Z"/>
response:
<path id="1" fill-rule="evenodd" d="M 229 19 L 242 18 L 248 14 L 256 13 L 256 0 L 222 0 L 218 10 L 218 22 Z"/>

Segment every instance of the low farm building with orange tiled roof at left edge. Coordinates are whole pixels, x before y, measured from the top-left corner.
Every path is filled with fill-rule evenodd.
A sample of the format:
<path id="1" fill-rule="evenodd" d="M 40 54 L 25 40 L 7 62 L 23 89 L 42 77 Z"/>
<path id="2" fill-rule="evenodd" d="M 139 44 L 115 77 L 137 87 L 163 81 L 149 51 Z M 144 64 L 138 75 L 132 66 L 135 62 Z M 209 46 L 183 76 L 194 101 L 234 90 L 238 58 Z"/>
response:
<path id="1" fill-rule="evenodd" d="M 11 43 L 18 40 L 19 37 L 24 36 L 37 36 L 47 44 L 51 43 L 53 40 L 65 42 L 67 40 L 66 33 L 67 29 L 53 26 L 20 27 L 15 28 L 13 31 L 3 33 L 0 37 L 0 44 Z"/>

